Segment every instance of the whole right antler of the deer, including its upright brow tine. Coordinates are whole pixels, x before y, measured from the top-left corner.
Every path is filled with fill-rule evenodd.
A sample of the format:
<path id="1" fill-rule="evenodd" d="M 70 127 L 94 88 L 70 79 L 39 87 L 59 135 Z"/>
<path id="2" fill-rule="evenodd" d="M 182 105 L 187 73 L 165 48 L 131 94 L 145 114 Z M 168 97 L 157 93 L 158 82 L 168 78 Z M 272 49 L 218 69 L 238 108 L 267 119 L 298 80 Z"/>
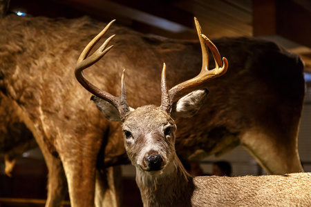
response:
<path id="1" fill-rule="evenodd" d="M 214 45 L 206 36 L 202 34 L 202 29 L 200 27 L 200 23 L 198 23 L 198 19 L 194 17 L 194 21 L 196 23 L 196 31 L 198 32 L 198 37 L 200 39 L 200 45 L 202 49 L 202 68 L 196 77 L 189 79 L 185 82 L 178 84 L 171 88 L 168 92 L 168 95 L 163 94 L 164 90 L 162 89 L 162 109 L 171 112 L 171 104 L 173 103 L 173 99 L 180 94 L 180 92 L 185 91 L 186 89 L 193 88 L 195 86 L 199 86 L 202 83 L 205 83 L 209 79 L 214 79 L 215 77 L 220 77 L 227 72 L 228 68 L 228 61 L 225 57 L 223 57 L 223 61 L 221 60 L 220 54 Z M 216 68 L 213 70 L 209 70 L 209 51 L 208 48 L 211 50 L 211 54 L 214 57 Z M 163 71 L 165 70 L 165 66 L 163 67 Z M 165 75 L 163 75 L 162 71 L 162 88 L 166 88 L 165 84 Z"/>

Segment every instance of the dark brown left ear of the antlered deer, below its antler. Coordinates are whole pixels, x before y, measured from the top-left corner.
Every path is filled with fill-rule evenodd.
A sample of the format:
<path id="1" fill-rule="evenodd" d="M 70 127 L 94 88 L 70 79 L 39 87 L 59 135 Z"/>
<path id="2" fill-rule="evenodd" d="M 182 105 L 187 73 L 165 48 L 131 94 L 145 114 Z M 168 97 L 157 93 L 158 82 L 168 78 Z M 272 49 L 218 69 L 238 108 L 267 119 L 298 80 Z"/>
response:
<path id="1" fill-rule="evenodd" d="M 99 97 L 92 96 L 91 100 L 95 102 L 97 108 L 109 121 L 121 121 L 120 113 L 111 103 Z"/>

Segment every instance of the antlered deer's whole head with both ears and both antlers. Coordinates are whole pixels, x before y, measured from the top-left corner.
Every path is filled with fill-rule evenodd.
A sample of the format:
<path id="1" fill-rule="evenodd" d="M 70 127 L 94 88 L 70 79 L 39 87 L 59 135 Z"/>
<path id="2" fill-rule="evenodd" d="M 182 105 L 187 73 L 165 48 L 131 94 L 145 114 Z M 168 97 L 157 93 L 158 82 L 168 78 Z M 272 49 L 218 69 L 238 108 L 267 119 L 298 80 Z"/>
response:
<path id="1" fill-rule="evenodd" d="M 105 34 L 112 23 L 113 21 L 88 43 L 78 59 L 75 76 L 86 90 L 95 95 L 92 99 L 107 119 L 122 122 L 124 145 L 132 164 L 136 168 L 151 174 L 162 172 L 163 168 L 169 168 L 167 166 L 173 163 L 171 160 L 176 157 L 176 124 L 174 120 L 179 117 L 194 115 L 206 99 L 209 91 L 206 89 L 195 90 L 183 97 L 182 92 L 185 93 L 189 88 L 194 88 L 209 79 L 225 74 L 228 67 L 227 59 L 224 57 L 222 61 L 216 46 L 202 34 L 200 24 L 195 18 L 196 30 L 202 48 L 202 69 L 200 74 L 167 90 L 166 66 L 164 63 L 161 78 L 161 106 L 142 106 L 134 110 L 126 103 L 125 71 L 122 73 L 120 97 L 115 97 L 100 90 L 88 81 L 82 72 L 111 50 L 112 46 L 108 48 L 106 46 L 114 35 L 109 37 L 91 57 L 86 58 L 95 43 Z M 215 59 L 216 68 L 213 70 L 208 69 L 207 47 L 211 50 Z"/>

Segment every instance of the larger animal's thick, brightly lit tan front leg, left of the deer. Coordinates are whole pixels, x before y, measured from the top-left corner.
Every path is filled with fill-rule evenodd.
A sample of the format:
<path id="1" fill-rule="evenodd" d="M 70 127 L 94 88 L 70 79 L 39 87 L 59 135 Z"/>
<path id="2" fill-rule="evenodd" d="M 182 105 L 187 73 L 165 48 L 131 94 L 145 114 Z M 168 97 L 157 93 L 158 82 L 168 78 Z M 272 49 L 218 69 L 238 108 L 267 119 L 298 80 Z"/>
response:
<path id="1" fill-rule="evenodd" d="M 90 143 L 93 137 L 84 137 L 78 144 L 68 143 L 70 138 L 63 139 L 66 143 L 59 143 L 57 151 L 64 166 L 68 182 L 70 206 L 94 206 L 95 197 L 95 172 L 97 153 L 100 148 L 98 143 Z M 86 140 L 89 146 L 86 146 Z"/>

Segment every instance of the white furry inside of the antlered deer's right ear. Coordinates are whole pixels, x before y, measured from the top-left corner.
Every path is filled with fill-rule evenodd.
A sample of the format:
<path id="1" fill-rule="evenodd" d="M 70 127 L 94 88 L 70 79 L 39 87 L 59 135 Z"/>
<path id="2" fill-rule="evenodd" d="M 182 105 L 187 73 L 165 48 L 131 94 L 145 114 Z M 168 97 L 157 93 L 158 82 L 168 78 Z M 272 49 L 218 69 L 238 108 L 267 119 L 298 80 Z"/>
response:
<path id="1" fill-rule="evenodd" d="M 205 100 L 206 90 L 195 90 L 193 92 L 190 92 L 189 94 L 185 95 L 185 97 L 182 97 L 178 100 L 176 104 L 176 112 L 185 112 L 191 109 L 198 110 L 198 103 Z"/>

